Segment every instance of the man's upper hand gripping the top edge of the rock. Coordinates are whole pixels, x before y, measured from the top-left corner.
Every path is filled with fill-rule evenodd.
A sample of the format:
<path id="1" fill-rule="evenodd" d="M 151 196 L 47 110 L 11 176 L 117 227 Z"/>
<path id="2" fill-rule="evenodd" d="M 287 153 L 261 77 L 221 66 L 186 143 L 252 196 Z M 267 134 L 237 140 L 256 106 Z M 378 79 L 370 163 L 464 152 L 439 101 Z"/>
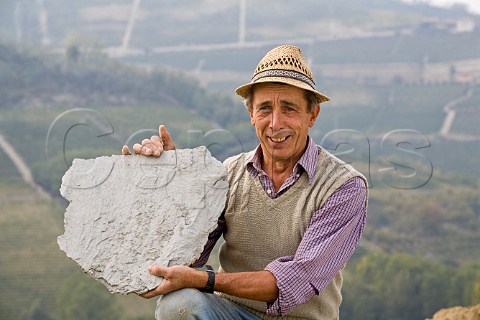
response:
<path id="1" fill-rule="evenodd" d="M 152 136 L 150 139 L 143 139 L 142 144 L 135 143 L 133 145 L 133 152 L 135 154 L 142 154 L 144 156 L 160 157 L 163 151 L 175 150 L 175 144 L 173 143 L 170 134 L 164 125 L 160 125 L 158 128 L 159 135 Z M 131 155 L 128 146 L 122 147 L 123 155 Z"/>

